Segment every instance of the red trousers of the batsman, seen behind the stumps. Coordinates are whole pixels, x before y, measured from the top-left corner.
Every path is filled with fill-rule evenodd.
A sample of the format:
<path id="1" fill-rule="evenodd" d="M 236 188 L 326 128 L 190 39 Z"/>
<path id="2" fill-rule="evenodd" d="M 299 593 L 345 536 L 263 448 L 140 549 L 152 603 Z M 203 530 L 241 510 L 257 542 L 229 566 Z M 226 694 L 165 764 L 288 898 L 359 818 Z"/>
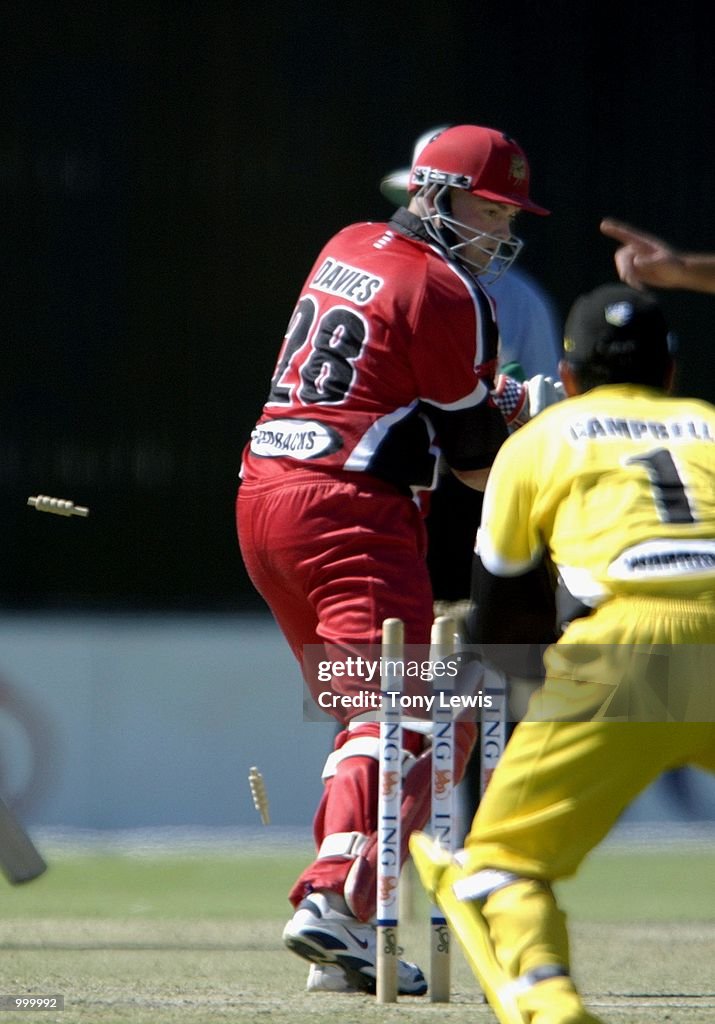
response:
<path id="1" fill-rule="evenodd" d="M 304 670 L 309 669 L 306 645 L 324 645 L 328 658 L 353 649 L 379 654 L 382 622 L 390 616 L 405 623 L 407 644 L 429 644 L 433 614 L 426 531 L 410 497 L 366 474 L 300 468 L 264 481 L 242 481 L 237 523 L 248 573 Z M 304 671 L 304 678 L 317 699 L 326 683 L 311 671 Z M 350 678 L 334 679 L 331 686 L 342 694 L 370 688 L 364 679 Z M 372 688 L 379 692 L 379 678 Z M 335 709 L 331 714 L 345 726 L 361 712 Z M 423 736 L 404 732 L 406 749 L 419 754 Z M 355 723 L 349 733 L 338 735 L 335 749 L 348 737 L 376 733 L 375 722 Z M 342 760 L 326 782 L 316 814 L 317 847 L 336 833 L 373 834 L 377 797 L 374 757 Z M 317 859 L 294 886 L 292 902 L 312 889 L 341 893 L 350 866 L 345 857 Z"/>

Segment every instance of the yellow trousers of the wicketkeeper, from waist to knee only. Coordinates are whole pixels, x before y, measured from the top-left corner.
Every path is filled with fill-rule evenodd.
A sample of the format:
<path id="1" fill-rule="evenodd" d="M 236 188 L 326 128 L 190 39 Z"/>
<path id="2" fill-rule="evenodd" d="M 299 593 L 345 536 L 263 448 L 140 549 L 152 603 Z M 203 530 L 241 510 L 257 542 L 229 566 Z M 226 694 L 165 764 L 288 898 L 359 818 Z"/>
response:
<path id="1" fill-rule="evenodd" d="M 715 772 L 712 595 L 614 598 L 574 622 L 545 665 L 474 818 L 467 871 L 565 878 L 663 772 Z"/>

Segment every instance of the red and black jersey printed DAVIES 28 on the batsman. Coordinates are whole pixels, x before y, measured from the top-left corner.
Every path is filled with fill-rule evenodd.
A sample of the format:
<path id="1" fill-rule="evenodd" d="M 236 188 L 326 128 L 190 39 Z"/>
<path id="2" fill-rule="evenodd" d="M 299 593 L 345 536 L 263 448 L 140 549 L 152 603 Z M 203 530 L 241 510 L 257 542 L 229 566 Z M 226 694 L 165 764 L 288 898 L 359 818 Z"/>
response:
<path id="1" fill-rule="evenodd" d="M 417 490 L 439 451 L 454 469 L 489 466 L 507 436 L 497 344 L 492 300 L 419 218 L 344 228 L 300 294 L 242 476 L 309 466 Z"/>

